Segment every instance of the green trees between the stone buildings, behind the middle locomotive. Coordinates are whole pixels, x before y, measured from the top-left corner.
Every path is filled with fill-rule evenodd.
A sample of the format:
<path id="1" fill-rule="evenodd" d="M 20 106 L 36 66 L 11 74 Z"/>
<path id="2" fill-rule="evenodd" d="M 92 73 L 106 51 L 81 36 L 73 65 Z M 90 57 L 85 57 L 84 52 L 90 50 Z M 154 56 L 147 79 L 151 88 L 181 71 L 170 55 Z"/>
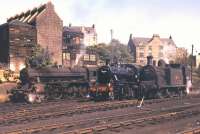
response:
<path id="1" fill-rule="evenodd" d="M 133 61 L 126 45 L 118 40 L 112 40 L 110 44 L 100 43 L 96 46 L 90 46 L 87 49 L 95 51 L 100 61 L 106 62 L 108 59 L 115 59 L 121 63 L 130 63 Z"/>

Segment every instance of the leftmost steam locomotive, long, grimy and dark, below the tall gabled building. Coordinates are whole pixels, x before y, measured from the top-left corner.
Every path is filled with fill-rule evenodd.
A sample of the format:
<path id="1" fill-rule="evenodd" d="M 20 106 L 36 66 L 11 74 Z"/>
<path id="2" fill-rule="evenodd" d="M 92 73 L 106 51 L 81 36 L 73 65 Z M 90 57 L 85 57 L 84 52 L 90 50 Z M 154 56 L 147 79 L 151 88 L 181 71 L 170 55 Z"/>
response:
<path id="1" fill-rule="evenodd" d="M 44 99 L 86 97 L 90 84 L 96 81 L 96 67 L 25 68 L 20 72 L 20 81 L 21 87 L 11 91 L 11 100 L 40 102 Z"/>

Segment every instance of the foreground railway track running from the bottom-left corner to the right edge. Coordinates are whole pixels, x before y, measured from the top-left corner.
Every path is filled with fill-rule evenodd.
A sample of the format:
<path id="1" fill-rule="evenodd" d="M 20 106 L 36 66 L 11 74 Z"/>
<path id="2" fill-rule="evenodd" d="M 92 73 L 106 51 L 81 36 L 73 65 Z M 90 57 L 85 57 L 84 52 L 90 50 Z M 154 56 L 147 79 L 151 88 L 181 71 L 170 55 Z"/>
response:
<path id="1" fill-rule="evenodd" d="M 178 120 L 200 114 L 200 103 L 172 107 L 165 110 L 151 110 L 137 113 L 118 114 L 95 119 L 79 120 L 75 122 L 54 123 L 41 127 L 30 127 L 5 132 L 5 134 L 24 133 L 59 133 L 59 134 L 91 134 L 105 130 L 112 130 L 125 126 L 141 124 L 156 124 L 164 121 Z"/>

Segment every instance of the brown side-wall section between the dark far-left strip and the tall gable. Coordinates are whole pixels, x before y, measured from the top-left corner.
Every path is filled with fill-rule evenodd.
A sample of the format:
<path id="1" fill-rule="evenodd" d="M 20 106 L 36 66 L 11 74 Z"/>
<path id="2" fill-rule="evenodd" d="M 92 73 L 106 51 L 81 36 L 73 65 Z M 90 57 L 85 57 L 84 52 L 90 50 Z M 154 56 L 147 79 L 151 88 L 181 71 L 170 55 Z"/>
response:
<path id="1" fill-rule="evenodd" d="M 32 55 L 36 44 L 35 27 L 23 23 L 9 24 L 9 68 L 19 72 L 25 60 Z"/>

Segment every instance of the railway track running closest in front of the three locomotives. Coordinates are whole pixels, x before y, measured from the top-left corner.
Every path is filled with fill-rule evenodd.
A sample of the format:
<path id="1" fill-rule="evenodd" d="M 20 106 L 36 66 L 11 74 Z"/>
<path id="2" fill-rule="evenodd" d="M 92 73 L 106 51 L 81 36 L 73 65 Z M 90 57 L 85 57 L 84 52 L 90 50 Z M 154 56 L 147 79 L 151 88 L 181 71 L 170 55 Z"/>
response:
<path id="1" fill-rule="evenodd" d="M 145 104 L 156 104 L 168 101 L 179 100 L 180 98 L 167 98 L 146 100 Z M 187 99 L 187 97 L 186 97 Z M 195 98 L 193 98 L 195 99 Z M 72 104 L 73 105 L 73 104 Z M 106 111 L 119 108 L 133 107 L 137 105 L 137 100 L 102 102 L 97 104 L 86 104 L 80 106 L 72 106 L 67 104 L 53 105 L 51 108 L 45 109 L 26 109 L 17 112 L 11 112 L 0 116 L 0 126 L 9 126 L 12 124 L 28 123 L 36 120 L 45 120 L 57 118 L 61 116 L 72 116 L 76 114 L 92 113 L 97 111 Z"/>

